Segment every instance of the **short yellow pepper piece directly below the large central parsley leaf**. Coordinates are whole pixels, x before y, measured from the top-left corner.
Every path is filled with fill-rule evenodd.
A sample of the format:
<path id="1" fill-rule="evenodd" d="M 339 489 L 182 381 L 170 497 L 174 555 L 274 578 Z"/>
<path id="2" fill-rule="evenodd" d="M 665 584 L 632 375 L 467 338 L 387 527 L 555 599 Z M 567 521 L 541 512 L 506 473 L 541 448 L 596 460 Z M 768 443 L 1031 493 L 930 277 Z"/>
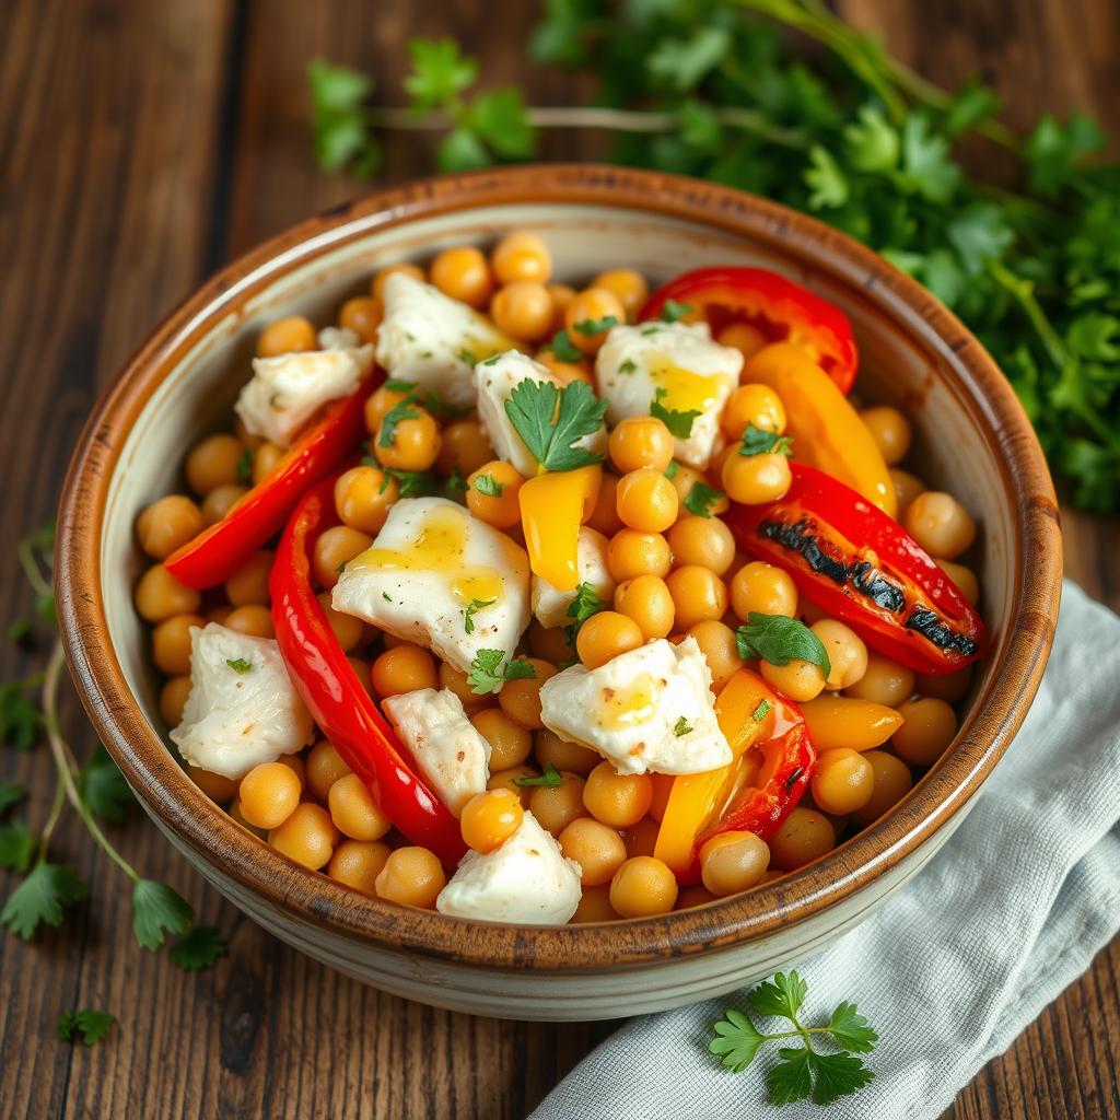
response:
<path id="1" fill-rule="evenodd" d="M 579 526 L 599 496 L 603 467 L 592 464 L 530 478 L 517 492 L 529 567 L 558 591 L 579 586 Z"/>

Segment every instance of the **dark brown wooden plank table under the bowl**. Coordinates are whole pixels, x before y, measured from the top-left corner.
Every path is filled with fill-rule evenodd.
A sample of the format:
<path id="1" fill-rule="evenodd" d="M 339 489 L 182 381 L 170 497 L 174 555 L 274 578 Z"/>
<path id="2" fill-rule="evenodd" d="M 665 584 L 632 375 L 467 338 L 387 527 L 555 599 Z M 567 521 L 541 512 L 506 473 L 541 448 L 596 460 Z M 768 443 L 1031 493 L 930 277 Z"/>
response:
<path id="1" fill-rule="evenodd" d="M 1094 109 L 1120 133 L 1116 0 L 846 0 L 930 77 L 979 72 L 1006 119 Z M 903 9 L 911 10 L 911 15 Z M 206 273 L 281 226 L 361 188 L 310 159 L 304 68 L 323 55 L 377 75 L 395 95 L 411 35 L 449 32 L 493 81 L 567 103 L 568 76 L 523 59 L 536 6 L 263 0 L 16 0 L 0 20 L 0 540 L 49 517 L 94 396 L 159 316 Z M 433 15 L 438 11 L 439 15 Z M 570 138 L 548 155 L 588 155 Z M 413 138 L 388 148 L 391 179 L 429 168 Z M 1120 607 L 1117 526 L 1066 514 L 1068 573 Z M 29 592 L 0 551 L 4 609 Z M 21 672 L 4 650 L 3 671 Z M 90 734 L 73 720 L 78 743 Z M 31 790 L 53 790 L 44 750 L 0 755 Z M 165 879 L 230 956 L 198 976 L 138 949 L 129 895 L 71 821 L 56 850 L 92 902 L 34 944 L 0 937 L 0 1116 L 521 1117 L 599 1039 L 606 1024 L 506 1024 L 448 1015 L 345 980 L 262 933 L 207 889 L 136 815 L 114 830 L 125 856 Z M 4 895 L 12 883 L 2 885 Z M 956 1120 L 1120 1116 L 1120 945 L 958 1099 Z M 53 1037 L 64 1009 L 119 1017 L 93 1049 Z"/>

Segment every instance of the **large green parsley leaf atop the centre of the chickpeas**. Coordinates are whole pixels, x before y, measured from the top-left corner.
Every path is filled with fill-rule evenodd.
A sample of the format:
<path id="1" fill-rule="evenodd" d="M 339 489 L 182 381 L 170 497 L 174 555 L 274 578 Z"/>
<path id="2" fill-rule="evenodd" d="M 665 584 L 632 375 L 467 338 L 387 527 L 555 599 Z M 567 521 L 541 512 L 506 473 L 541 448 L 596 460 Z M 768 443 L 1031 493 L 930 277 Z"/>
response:
<path id="1" fill-rule="evenodd" d="M 575 470 L 599 463 L 601 455 L 575 447 L 603 424 L 607 402 L 582 381 L 563 389 L 551 382 L 523 381 L 505 400 L 505 412 L 530 452 L 545 470 Z"/>

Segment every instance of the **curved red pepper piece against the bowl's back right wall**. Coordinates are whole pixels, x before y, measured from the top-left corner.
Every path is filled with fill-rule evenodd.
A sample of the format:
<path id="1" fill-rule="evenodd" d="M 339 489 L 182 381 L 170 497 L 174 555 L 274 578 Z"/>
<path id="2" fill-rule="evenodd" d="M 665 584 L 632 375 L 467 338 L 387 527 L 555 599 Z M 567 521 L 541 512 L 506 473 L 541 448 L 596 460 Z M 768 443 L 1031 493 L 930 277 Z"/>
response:
<path id="1" fill-rule="evenodd" d="M 731 323 L 749 323 L 772 343 L 793 343 L 841 392 L 856 380 L 859 358 L 848 316 L 777 272 L 732 265 L 683 272 L 650 297 L 638 318 L 660 319 L 670 300 L 701 315 L 712 334 Z"/>

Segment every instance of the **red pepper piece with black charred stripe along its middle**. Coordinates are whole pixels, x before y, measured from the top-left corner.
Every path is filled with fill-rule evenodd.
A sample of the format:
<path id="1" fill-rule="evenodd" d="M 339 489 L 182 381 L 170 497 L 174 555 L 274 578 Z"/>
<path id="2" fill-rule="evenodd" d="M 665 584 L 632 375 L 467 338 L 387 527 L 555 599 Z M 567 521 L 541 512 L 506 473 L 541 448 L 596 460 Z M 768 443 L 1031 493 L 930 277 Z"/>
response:
<path id="1" fill-rule="evenodd" d="M 879 653 L 920 673 L 951 673 L 984 650 L 984 626 L 956 585 L 892 517 L 803 463 L 785 497 L 731 503 L 744 552 L 787 571 L 811 603 Z"/>

